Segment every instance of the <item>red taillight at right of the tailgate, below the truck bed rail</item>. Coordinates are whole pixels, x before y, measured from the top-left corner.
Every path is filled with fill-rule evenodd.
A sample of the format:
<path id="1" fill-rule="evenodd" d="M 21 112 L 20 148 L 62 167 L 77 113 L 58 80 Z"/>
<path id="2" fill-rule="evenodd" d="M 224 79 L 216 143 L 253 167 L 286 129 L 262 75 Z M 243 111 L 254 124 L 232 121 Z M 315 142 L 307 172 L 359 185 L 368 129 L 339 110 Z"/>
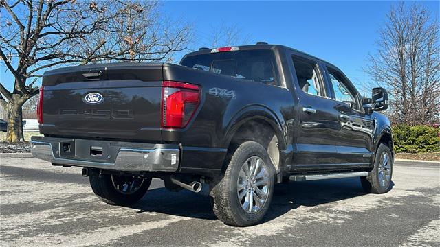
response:
<path id="1" fill-rule="evenodd" d="M 162 82 L 162 127 L 184 128 L 199 104 L 199 86 L 184 82 Z"/>

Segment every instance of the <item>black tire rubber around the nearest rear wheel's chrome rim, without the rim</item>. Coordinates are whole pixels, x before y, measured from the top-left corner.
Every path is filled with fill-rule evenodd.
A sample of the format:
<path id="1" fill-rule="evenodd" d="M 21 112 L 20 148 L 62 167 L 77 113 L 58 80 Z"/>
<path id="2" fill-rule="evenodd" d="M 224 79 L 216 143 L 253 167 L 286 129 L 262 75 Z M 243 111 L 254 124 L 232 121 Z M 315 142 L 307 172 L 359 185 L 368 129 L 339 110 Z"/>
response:
<path id="1" fill-rule="evenodd" d="M 243 164 L 252 157 L 264 161 L 268 174 L 267 198 L 258 211 L 251 213 L 243 209 L 238 198 L 239 173 Z M 275 185 L 275 169 L 265 148 L 255 141 L 246 141 L 239 145 L 230 158 L 222 180 L 211 191 L 212 209 L 222 222 L 231 226 L 252 226 L 260 222 L 272 202 Z M 255 183 L 255 182 L 254 182 Z M 253 199 L 252 199 L 253 200 Z"/>

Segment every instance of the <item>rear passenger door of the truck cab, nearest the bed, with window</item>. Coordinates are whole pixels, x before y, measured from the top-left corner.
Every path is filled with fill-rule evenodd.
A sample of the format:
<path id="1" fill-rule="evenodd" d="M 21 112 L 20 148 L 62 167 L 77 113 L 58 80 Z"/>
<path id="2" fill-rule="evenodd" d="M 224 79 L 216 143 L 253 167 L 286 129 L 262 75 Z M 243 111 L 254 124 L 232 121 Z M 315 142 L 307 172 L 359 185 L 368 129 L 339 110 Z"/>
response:
<path id="1" fill-rule="evenodd" d="M 332 169 L 340 134 L 337 103 L 329 98 L 318 61 L 300 55 L 292 58 L 299 99 L 293 169 Z"/>

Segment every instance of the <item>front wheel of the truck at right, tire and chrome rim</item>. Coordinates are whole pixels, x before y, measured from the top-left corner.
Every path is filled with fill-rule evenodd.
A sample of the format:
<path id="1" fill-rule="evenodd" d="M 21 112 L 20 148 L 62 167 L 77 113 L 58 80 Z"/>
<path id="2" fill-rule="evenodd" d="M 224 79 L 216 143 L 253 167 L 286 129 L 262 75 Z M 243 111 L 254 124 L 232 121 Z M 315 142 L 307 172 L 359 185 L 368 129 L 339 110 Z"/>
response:
<path id="1" fill-rule="evenodd" d="M 381 143 L 377 148 L 374 167 L 368 176 L 360 178 L 367 193 L 386 193 L 391 190 L 393 176 L 393 156 L 390 148 Z"/>

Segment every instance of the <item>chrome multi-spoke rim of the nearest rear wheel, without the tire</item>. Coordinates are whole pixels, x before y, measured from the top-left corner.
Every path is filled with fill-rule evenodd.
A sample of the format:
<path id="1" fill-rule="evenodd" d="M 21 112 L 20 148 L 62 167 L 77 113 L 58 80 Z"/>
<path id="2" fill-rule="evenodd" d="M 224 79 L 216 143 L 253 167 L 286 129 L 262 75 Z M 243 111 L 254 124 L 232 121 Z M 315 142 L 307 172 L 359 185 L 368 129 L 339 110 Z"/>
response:
<path id="1" fill-rule="evenodd" d="M 247 213 L 258 213 L 263 208 L 270 189 L 270 174 L 258 156 L 248 158 L 241 166 L 237 180 L 237 195 Z"/>

